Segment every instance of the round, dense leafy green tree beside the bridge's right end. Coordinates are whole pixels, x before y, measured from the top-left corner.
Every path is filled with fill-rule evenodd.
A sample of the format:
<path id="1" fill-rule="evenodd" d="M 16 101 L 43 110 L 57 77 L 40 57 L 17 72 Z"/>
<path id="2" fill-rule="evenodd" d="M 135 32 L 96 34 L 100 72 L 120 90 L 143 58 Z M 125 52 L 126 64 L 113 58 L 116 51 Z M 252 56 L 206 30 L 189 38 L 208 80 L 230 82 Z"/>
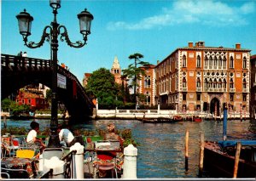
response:
<path id="1" fill-rule="evenodd" d="M 109 108 L 117 105 L 118 86 L 113 74 L 105 68 L 92 72 L 85 90 L 98 99 L 99 105 L 108 105 Z"/>

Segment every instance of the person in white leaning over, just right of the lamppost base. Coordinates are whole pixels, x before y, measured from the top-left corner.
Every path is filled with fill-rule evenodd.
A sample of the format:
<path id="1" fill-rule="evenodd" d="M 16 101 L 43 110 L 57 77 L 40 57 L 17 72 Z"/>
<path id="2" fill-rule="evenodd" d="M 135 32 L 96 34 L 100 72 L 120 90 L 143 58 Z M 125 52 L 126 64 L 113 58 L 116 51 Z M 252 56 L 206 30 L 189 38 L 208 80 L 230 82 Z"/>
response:
<path id="1" fill-rule="evenodd" d="M 67 125 L 59 126 L 57 129 L 59 133 L 59 139 L 62 146 L 73 146 L 76 143 L 76 139 L 73 136 L 73 133 L 68 129 Z"/>

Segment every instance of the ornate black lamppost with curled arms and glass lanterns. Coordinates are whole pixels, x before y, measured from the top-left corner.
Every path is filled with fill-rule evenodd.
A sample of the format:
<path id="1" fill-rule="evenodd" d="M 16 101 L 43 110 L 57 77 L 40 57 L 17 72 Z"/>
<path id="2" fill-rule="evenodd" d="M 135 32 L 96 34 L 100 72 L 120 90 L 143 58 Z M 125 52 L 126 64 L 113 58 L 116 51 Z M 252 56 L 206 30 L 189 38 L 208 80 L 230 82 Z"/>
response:
<path id="1" fill-rule="evenodd" d="M 86 44 L 87 36 L 90 34 L 90 24 L 93 20 L 93 15 L 90 14 L 86 8 L 80 14 L 78 14 L 80 33 L 83 35 L 83 42 L 71 42 L 67 35 L 67 28 L 64 25 L 59 25 L 56 20 L 57 9 L 61 8 L 61 0 L 49 0 L 49 6 L 53 8 L 54 20 L 50 25 L 44 27 L 43 35 L 41 40 L 36 42 L 28 42 L 27 37 L 31 35 L 31 27 L 33 17 L 24 12 L 16 15 L 19 23 L 20 35 L 23 37 L 26 47 L 28 48 L 39 48 L 44 44 L 44 41 L 48 41 L 51 47 L 52 53 L 52 100 L 51 100 L 51 120 L 50 120 L 50 135 L 48 147 L 61 147 L 57 127 L 58 127 L 58 102 L 57 102 L 57 52 L 58 52 L 58 36 L 61 35 L 60 40 L 67 42 L 67 45 L 73 48 L 82 48 Z M 62 31 L 61 31 L 62 30 Z M 48 31 L 48 32 L 47 32 Z"/>

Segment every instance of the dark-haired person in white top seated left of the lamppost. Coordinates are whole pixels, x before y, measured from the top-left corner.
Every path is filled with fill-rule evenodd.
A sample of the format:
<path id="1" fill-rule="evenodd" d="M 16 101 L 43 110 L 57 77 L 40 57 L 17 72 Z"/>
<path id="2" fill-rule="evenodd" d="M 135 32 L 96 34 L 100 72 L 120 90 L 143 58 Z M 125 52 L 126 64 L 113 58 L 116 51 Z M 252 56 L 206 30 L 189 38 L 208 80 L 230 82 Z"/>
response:
<path id="1" fill-rule="evenodd" d="M 39 123 L 32 121 L 30 123 L 30 127 L 32 128 L 30 132 L 27 134 L 26 143 L 27 146 L 30 148 L 40 150 L 40 153 L 43 152 L 44 148 L 46 147 L 42 141 L 42 139 L 38 139 L 38 132 L 39 132 Z"/>

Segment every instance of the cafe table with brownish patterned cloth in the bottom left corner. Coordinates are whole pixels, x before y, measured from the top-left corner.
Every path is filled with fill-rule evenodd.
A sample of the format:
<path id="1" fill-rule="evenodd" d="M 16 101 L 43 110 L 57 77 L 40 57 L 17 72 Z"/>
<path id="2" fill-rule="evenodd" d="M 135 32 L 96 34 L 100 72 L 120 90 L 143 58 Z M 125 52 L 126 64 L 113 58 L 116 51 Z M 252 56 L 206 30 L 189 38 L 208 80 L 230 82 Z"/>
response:
<path id="1" fill-rule="evenodd" d="M 1 160 L 1 167 L 10 169 L 24 169 L 29 174 L 29 177 L 33 177 L 33 170 L 35 169 L 34 161 L 29 158 L 18 157 L 4 157 Z"/>

